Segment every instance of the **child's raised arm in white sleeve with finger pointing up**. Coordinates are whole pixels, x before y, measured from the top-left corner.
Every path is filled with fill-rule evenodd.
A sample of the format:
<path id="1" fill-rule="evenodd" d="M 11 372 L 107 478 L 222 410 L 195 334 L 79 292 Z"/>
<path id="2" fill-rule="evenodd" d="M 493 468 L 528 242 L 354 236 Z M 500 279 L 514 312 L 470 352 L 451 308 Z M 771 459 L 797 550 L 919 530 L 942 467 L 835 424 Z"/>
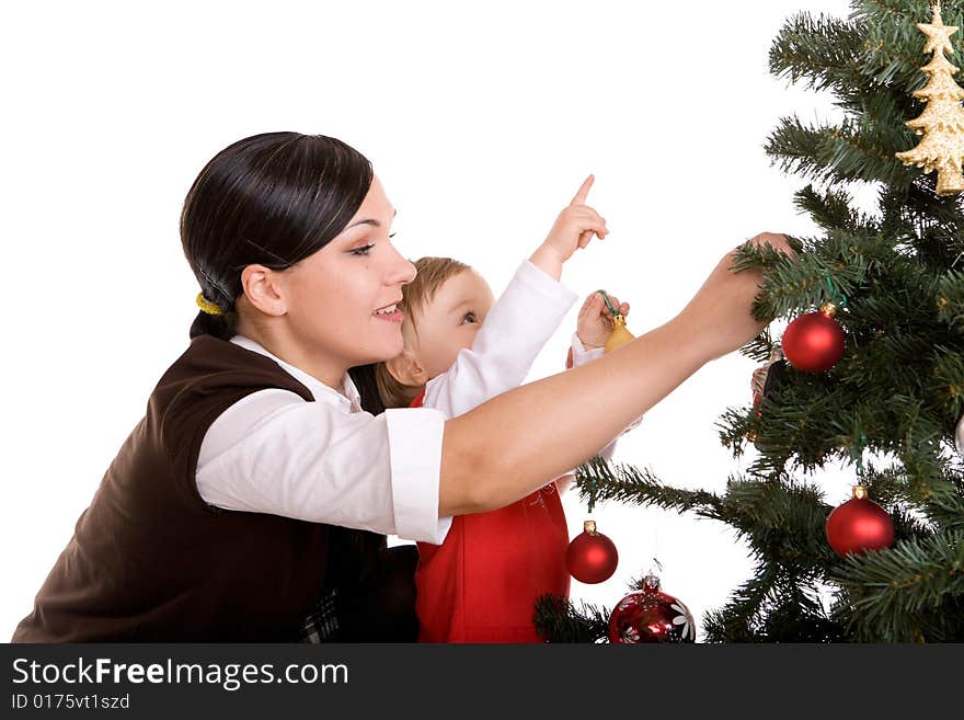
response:
<path id="1" fill-rule="evenodd" d="M 559 214 L 544 242 L 523 263 L 489 311 L 472 347 L 425 386 L 423 407 L 457 418 L 525 380 L 539 351 L 559 328 L 576 295 L 559 282 L 562 263 L 606 224 L 585 205 L 593 176 Z M 588 237 L 584 237 L 588 236 Z"/>

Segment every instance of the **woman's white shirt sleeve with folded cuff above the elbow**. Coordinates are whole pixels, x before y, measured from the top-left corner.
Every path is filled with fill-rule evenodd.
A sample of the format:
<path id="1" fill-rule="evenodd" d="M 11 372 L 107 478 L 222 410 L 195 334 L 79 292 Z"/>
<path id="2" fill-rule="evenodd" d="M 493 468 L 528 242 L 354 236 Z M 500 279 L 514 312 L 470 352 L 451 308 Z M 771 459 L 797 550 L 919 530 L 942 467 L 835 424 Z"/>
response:
<path id="1" fill-rule="evenodd" d="M 345 412 L 288 390 L 253 392 L 215 420 L 198 455 L 205 502 L 441 544 L 443 413 Z"/>

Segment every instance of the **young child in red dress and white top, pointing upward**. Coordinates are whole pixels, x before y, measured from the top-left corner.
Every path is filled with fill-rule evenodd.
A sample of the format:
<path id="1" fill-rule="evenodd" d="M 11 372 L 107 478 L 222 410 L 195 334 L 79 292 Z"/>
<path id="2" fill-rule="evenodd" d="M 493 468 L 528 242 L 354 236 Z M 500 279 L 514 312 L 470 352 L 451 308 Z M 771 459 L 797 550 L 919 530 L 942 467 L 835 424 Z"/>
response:
<path id="1" fill-rule="evenodd" d="M 595 210 L 582 203 L 592 178 L 497 302 L 463 263 L 415 262 L 417 275 L 403 288 L 405 348 L 378 368 L 386 407 L 431 407 L 457 416 L 521 384 L 575 299 L 558 282 L 562 262 L 588 243 L 587 228 L 598 233 L 587 225 Z M 605 235 L 605 224 L 602 229 Z M 623 315 L 629 311 L 628 304 L 611 301 Z M 608 317 L 602 297 L 590 295 L 573 335 L 573 365 L 602 354 L 611 332 Z M 600 454 L 611 450 L 610 444 Z M 571 480 L 563 476 L 502 510 L 457 516 L 443 545 L 418 544 L 420 641 L 540 640 L 532 621 L 536 599 L 569 595 L 569 532 L 559 493 Z"/>

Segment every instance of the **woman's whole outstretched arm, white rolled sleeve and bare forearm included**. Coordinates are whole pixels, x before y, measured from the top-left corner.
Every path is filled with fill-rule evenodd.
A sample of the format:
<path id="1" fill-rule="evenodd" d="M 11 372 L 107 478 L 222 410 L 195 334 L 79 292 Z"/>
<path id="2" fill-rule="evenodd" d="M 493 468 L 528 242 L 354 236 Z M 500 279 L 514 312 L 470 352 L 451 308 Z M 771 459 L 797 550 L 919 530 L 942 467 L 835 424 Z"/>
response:
<path id="1" fill-rule="evenodd" d="M 790 251 L 782 236 L 757 241 Z M 666 324 L 454 420 L 425 408 L 347 412 L 324 387 L 315 391 L 329 401 L 254 392 L 208 428 L 198 493 L 225 510 L 438 544 L 451 515 L 507 505 L 569 471 L 708 361 L 753 339 L 765 325 L 750 316 L 760 273 L 730 272 L 731 256 Z"/>

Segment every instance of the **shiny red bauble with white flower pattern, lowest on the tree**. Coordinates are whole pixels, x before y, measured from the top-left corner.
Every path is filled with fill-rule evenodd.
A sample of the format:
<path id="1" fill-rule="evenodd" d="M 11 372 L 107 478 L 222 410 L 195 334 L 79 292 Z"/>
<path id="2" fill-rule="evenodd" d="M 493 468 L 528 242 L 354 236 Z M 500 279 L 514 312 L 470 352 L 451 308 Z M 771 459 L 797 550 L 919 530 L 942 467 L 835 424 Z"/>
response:
<path id="1" fill-rule="evenodd" d="M 630 593 L 609 616 L 609 641 L 696 642 L 697 631 L 686 605 L 659 591 L 659 579 L 646 575 L 643 588 Z"/>

